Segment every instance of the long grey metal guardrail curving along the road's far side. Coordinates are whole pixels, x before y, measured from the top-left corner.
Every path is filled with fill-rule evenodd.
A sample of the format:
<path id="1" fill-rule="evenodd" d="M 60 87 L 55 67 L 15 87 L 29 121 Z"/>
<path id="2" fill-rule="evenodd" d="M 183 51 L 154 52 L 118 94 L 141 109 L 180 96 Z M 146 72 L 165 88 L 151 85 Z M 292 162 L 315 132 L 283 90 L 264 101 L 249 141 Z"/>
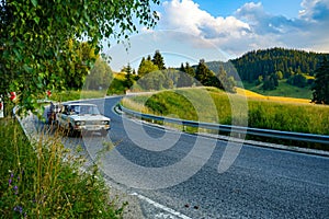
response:
<path id="1" fill-rule="evenodd" d="M 169 118 L 169 117 L 138 113 L 138 112 L 128 110 L 128 108 L 122 106 L 121 104 L 118 104 L 118 107 L 122 112 L 124 112 L 128 115 L 132 115 L 132 116 L 138 117 L 138 118 L 144 118 L 144 119 L 152 119 L 152 120 L 158 120 L 158 122 L 172 123 L 172 124 L 190 126 L 190 127 L 200 127 L 200 128 L 206 128 L 206 129 L 218 130 L 218 131 L 227 131 L 227 132 L 261 136 L 261 137 L 269 137 L 269 138 L 288 139 L 288 140 L 308 141 L 308 142 L 329 145 L 329 136 L 325 136 L 325 135 L 292 132 L 292 131 L 282 131 L 282 130 L 272 130 L 272 129 L 260 129 L 260 128 L 250 128 L 250 127 L 241 127 L 241 126 L 201 123 L 201 122 L 194 122 L 194 120 L 182 120 L 182 119 L 178 119 L 178 118 Z"/>

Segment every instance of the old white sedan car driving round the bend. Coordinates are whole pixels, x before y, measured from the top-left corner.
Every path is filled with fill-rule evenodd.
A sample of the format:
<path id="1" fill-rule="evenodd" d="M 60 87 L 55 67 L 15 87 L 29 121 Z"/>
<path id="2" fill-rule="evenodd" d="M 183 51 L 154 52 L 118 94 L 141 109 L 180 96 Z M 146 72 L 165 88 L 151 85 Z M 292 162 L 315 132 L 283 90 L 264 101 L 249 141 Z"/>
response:
<path id="1" fill-rule="evenodd" d="M 56 115 L 58 127 L 68 130 L 69 135 L 82 131 L 100 131 L 106 136 L 111 119 L 101 115 L 95 104 L 66 103 Z"/>

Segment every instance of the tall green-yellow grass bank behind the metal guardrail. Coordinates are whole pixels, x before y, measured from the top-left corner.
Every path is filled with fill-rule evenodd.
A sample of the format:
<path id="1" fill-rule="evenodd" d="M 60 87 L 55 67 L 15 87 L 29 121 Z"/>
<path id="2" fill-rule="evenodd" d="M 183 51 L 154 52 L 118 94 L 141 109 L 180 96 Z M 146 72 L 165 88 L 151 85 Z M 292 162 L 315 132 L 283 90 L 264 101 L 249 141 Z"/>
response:
<path id="1" fill-rule="evenodd" d="M 231 125 L 232 119 L 247 119 L 248 126 L 254 128 L 329 135 L 329 106 L 310 104 L 308 100 L 262 96 L 246 92 L 247 108 L 242 108 L 246 106 L 242 104 L 238 106 L 241 112 L 232 114 L 230 100 L 241 99 L 242 103 L 242 93 L 239 90 L 238 94 L 226 94 L 213 88 L 183 89 L 123 100 L 123 104 L 144 113 L 189 120 Z M 206 96 L 211 96 L 211 100 Z M 215 105 L 215 110 L 212 105 Z M 189 128 L 188 131 L 196 131 L 196 128 Z M 273 141 L 268 138 L 265 140 Z M 274 141 L 328 150 L 328 147 L 315 143 Z"/>

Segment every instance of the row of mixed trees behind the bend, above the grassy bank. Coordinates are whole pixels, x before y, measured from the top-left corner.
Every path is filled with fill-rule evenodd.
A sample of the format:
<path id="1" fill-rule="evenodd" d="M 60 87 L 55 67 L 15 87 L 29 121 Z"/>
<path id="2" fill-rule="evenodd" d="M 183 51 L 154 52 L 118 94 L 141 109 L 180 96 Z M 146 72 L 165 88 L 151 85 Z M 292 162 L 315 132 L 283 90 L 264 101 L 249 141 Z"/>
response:
<path id="1" fill-rule="evenodd" d="M 141 90 L 161 90 L 184 87 L 215 87 L 228 92 L 236 92 L 236 81 L 229 77 L 223 66 L 211 70 L 204 59 L 195 67 L 189 62 L 180 68 L 167 68 L 163 56 L 156 50 L 154 56 L 143 57 L 138 70 L 132 70 L 129 64 L 122 69 L 126 73 L 126 87 L 133 84 Z"/>

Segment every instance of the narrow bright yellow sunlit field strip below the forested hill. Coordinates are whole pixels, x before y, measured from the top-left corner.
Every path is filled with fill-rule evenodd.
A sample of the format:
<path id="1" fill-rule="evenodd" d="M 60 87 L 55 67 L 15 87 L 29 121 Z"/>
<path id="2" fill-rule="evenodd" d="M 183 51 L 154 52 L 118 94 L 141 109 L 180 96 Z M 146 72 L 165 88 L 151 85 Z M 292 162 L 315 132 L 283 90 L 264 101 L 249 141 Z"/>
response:
<path id="1" fill-rule="evenodd" d="M 237 94 L 246 95 L 248 99 L 257 99 L 263 101 L 271 101 L 271 102 L 287 102 L 287 103 L 304 103 L 304 104 L 313 104 L 310 100 L 307 99 L 294 99 L 294 97 L 283 97 L 283 96 L 264 96 L 259 93 L 245 90 L 241 88 L 237 88 Z"/>

